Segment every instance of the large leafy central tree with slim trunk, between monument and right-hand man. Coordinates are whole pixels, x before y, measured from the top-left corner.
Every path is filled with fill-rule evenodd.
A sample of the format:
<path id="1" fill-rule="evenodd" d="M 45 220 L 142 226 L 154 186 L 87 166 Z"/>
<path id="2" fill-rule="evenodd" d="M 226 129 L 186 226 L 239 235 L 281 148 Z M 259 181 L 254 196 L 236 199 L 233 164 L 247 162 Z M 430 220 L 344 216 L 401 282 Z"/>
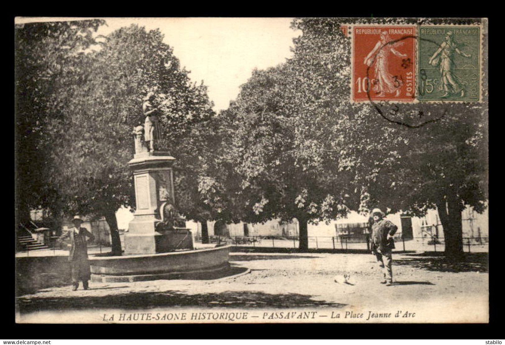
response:
<path id="1" fill-rule="evenodd" d="M 241 177 L 234 193 L 242 197 L 242 219 L 296 218 L 301 250 L 308 249 L 309 221 L 346 214 L 350 178 L 335 175 L 339 157 L 318 139 L 327 128 L 313 122 L 323 115 L 307 107 L 314 95 L 302 88 L 306 77 L 313 76 L 297 74 L 290 62 L 254 71 L 222 114 L 230 122 L 226 159 Z"/>

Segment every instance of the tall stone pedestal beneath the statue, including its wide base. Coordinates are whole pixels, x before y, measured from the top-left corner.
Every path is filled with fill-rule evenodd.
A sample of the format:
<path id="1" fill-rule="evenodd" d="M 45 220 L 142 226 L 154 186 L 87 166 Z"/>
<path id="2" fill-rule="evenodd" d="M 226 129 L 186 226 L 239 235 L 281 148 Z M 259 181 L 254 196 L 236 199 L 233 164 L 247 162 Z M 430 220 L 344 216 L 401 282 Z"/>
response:
<path id="1" fill-rule="evenodd" d="M 125 236 L 125 254 L 156 254 L 193 249 L 188 229 L 164 229 L 160 207 L 174 203 L 172 165 L 168 152 L 136 153 L 128 162 L 135 182 L 136 210 Z M 189 240 L 189 242 L 188 242 Z"/>

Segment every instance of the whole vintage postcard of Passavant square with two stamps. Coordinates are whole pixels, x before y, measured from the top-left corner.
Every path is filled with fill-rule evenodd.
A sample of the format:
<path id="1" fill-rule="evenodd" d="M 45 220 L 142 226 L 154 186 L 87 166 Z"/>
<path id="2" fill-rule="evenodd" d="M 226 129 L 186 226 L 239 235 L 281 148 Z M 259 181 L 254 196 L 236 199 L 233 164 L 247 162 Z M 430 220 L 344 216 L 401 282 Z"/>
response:
<path id="1" fill-rule="evenodd" d="M 487 19 L 15 19 L 17 323 L 488 323 Z"/>

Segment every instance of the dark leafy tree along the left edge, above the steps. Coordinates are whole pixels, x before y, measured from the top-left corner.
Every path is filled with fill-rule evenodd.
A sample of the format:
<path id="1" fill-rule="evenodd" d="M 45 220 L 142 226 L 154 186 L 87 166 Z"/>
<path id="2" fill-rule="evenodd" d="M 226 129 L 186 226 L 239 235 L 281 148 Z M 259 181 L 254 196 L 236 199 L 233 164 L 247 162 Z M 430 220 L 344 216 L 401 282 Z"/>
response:
<path id="1" fill-rule="evenodd" d="M 84 50 L 95 43 L 102 20 L 17 24 L 15 26 L 16 210 L 30 219 L 30 209 L 58 214 L 58 192 L 47 181 L 52 148 L 47 123 L 64 115 L 68 86 L 85 71 Z"/>

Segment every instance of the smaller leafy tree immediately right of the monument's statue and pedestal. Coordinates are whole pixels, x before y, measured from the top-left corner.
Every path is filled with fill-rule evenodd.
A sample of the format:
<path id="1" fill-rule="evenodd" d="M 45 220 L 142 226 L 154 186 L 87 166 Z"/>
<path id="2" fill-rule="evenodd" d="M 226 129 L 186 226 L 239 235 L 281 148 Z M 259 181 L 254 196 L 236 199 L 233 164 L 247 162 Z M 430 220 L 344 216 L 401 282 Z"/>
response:
<path id="1" fill-rule="evenodd" d="M 181 141 L 175 179 L 179 210 L 202 225 L 202 241 L 209 242 L 208 220 L 244 220 L 241 175 L 229 159 L 226 139 L 232 122 L 220 114 L 193 126 Z"/>

